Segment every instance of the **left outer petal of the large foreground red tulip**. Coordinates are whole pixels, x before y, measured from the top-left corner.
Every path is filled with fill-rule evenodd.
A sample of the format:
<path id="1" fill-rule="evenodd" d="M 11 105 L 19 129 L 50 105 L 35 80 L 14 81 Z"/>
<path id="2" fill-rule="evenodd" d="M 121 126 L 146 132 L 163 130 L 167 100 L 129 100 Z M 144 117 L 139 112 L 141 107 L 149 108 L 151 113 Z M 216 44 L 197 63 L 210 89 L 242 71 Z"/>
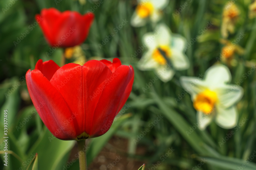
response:
<path id="1" fill-rule="evenodd" d="M 28 70 L 26 82 L 31 100 L 51 133 L 62 140 L 76 139 L 75 116 L 57 89 L 39 70 Z"/>

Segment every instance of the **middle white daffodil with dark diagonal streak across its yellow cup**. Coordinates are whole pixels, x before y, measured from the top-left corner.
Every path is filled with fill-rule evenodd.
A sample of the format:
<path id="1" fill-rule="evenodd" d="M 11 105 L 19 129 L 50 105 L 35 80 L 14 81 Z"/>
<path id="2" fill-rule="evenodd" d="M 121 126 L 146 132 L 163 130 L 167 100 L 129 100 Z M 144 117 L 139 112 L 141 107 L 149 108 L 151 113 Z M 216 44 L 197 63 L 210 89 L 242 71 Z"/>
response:
<path id="1" fill-rule="evenodd" d="M 175 70 L 189 68 L 189 61 L 184 54 L 185 38 L 172 34 L 170 29 L 160 24 L 155 32 L 143 36 L 143 46 L 148 48 L 138 62 L 141 70 L 155 70 L 158 77 L 167 82 L 173 78 Z"/>

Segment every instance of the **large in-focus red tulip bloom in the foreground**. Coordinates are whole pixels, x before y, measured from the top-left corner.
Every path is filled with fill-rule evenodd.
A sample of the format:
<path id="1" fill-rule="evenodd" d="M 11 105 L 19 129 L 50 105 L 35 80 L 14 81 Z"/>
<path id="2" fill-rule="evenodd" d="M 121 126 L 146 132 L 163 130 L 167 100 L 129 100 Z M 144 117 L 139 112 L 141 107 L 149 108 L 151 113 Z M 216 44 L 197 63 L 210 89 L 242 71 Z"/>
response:
<path id="1" fill-rule="evenodd" d="M 38 60 L 26 81 L 39 116 L 62 140 L 103 135 L 128 99 L 134 79 L 132 66 L 118 58 L 90 60 L 83 66 Z M 44 103 L 42 105 L 42 103 Z"/>

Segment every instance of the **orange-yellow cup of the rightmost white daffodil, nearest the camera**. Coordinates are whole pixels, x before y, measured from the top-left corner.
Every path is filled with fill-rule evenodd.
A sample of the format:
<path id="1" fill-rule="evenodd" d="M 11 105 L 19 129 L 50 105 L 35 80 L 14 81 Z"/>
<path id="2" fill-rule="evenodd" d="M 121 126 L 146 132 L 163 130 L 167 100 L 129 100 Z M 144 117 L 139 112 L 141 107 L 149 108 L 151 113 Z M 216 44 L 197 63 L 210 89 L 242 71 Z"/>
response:
<path id="1" fill-rule="evenodd" d="M 206 115 L 209 115 L 217 102 L 217 94 L 210 90 L 198 93 L 194 99 L 193 106 L 197 111 L 201 111 Z"/>

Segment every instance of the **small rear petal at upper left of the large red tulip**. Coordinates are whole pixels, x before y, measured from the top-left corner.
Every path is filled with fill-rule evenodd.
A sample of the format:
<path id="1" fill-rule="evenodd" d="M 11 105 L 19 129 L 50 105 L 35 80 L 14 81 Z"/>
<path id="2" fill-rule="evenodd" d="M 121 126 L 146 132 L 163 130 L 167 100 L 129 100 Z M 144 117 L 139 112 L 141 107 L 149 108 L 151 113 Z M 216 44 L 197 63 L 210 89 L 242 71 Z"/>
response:
<path id="1" fill-rule="evenodd" d="M 36 63 L 35 69 L 41 71 L 41 73 L 50 81 L 54 73 L 60 67 L 52 60 L 43 62 L 43 60 L 39 59 Z"/>

